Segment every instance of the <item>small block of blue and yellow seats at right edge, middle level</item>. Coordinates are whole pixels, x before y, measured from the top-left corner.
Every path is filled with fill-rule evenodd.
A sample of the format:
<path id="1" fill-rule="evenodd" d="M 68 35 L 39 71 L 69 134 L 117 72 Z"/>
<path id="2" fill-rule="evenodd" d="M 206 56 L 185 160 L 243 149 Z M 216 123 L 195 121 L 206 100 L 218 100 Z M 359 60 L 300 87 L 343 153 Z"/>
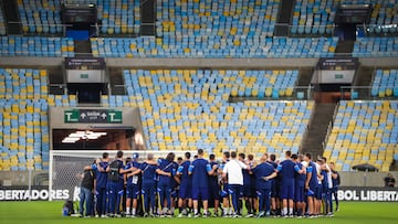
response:
<path id="1" fill-rule="evenodd" d="M 370 94 L 373 97 L 398 97 L 398 71 L 377 70 Z"/>

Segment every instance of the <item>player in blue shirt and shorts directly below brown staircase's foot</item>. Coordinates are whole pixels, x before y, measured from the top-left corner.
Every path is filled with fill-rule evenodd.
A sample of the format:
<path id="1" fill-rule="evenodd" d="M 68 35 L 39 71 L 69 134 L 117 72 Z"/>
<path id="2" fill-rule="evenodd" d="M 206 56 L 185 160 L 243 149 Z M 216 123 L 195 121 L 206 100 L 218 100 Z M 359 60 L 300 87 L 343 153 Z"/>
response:
<path id="1" fill-rule="evenodd" d="M 316 164 L 312 161 L 311 153 L 304 156 L 304 161 L 307 163 L 305 190 L 307 193 L 308 215 L 313 216 L 315 215 L 315 207 L 317 206 L 317 200 L 315 199 L 315 192 L 318 185 L 317 170 Z"/>

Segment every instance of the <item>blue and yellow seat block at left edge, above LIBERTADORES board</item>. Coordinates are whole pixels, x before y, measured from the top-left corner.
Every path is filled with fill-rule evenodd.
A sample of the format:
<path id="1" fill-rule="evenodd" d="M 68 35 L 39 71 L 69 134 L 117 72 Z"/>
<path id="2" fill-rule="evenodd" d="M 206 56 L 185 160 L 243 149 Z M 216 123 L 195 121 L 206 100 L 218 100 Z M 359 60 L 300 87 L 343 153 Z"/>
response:
<path id="1" fill-rule="evenodd" d="M 0 170 L 49 166 L 48 74 L 0 68 Z"/>

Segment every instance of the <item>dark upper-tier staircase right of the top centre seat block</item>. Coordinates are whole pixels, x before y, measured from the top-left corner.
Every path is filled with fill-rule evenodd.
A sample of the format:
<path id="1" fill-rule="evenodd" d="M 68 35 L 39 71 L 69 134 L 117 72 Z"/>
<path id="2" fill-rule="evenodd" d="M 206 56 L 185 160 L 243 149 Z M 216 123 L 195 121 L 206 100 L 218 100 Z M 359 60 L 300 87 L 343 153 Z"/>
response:
<path id="1" fill-rule="evenodd" d="M 280 8 L 277 22 L 275 25 L 275 36 L 287 36 L 289 35 L 289 24 L 292 21 L 292 10 L 294 7 L 295 0 L 282 0 Z"/>

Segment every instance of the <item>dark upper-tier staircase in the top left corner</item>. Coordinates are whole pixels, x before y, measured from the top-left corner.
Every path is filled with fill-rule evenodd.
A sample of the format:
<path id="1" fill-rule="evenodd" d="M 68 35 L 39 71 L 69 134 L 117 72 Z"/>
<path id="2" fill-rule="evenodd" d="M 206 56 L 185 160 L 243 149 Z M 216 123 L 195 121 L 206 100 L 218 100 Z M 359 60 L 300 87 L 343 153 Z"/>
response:
<path id="1" fill-rule="evenodd" d="M 21 25 L 18 17 L 19 12 L 17 10 L 15 1 L 2 0 L 2 4 L 4 8 L 4 17 L 7 19 L 8 34 L 21 34 Z"/>

